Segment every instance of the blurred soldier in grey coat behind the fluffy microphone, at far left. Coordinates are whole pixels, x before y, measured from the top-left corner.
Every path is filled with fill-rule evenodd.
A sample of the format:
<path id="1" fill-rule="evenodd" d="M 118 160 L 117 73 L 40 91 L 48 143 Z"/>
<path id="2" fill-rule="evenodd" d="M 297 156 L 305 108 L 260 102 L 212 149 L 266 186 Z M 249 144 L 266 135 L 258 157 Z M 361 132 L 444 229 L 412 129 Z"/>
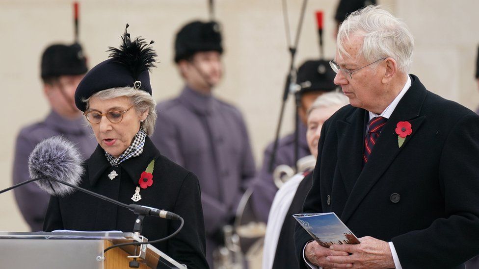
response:
<path id="1" fill-rule="evenodd" d="M 41 77 L 43 91 L 51 106 L 44 121 L 25 126 L 17 136 L 13 162 L 13 183 L 30 179 L 28 156 L 42 140 L 63 135 L 80 148 L 86 159 L 97 145 L 80 110 L 75 106 L 74 94 L 81 78 L 87 72 L 86 60 L 79 44 L 49 46 L 42 55 Z M 15 189 L 15 199 L 32 231 L 41 231 L 50 195 L 36 184 Z"/>

